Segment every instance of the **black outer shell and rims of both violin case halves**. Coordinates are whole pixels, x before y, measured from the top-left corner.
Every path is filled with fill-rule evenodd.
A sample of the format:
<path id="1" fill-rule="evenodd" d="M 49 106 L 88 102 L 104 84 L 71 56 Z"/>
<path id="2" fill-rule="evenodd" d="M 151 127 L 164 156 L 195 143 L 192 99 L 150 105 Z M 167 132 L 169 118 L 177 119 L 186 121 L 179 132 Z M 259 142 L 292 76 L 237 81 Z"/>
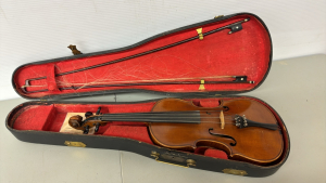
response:
<path id="1" fill-rule="evenodd" d="M 61 58 L 54 58 L 54 60 L 48 60 L 48 61 L 41 61 L 41 62 L 36 62 L 36 63 L 30 63 L 30 64 L 42 64 L 42 63 L 51 63 L 51 62 L 58 62 L 58 61 L 65 61 L 65 60 L 72 60 L 72 58 L 79 58 L 79 57 L 87 57 L 87 56 L 92 56 L 92 55 L 100 55 L 100 54 L 106 54 L 106 53 L 113 53 L 117 51 L 123 51 L 123 50 L 128 50 L 133 49 L 135 47 L 138 47 L 140 44 L 143 44 L 146 42 L 149 42 L 158 37 L 165 36 L 167 34 L 173 34 L 177 32 L 180 30 L 185 30 L 191 27 L 209 24 L 209 23 L 214 23 L 223 19 L 227 19 L 237 15 L 242 15 L 242 14 L 248 14 L 255 16 L 262 25 L 265 27 L 266 31 L 268 32 L 268 29 L 264 22 L 258 17 L 254 14 L 251 13 L 237 13 L 237 14 L 231 14 L 227 16 L 222 16 L 218 18 L 214 18 L 211 21 L 205 21 L 202 23 L 198 24 L 192 24 L 189 26 L 185 26 L 178 29 L 165 31 L 163 34 L 156 35 L 154 37 L 151 37 L 149 39 L 146 39 L 141 42 L 138 42 L 136 44 L 122 48 L 122 49 L 115 49 L 115 50 L 109 50 L 109 51 L 103 51 L 103 52 L 96 52 L 96 53 L 88 53 L 88 54 L 82 54 L 82 55 L 74 55 L 74 56 L 67 56 L 67 57 L 61 57 Z M 269 35 L 269 32 L 268 32 Z M 271 36 L 269 36 L 271 39 Z M 272 44 L 272 40 L 271 40 Z M 271 69 L 272 65 L 272 45 L 271 45 L 271 55 L 269 55 L 269 63 L 268 63 L 268 69 L 265 73 L 265 76 L 263 80 L 252 90 L 256 89 L 262 84 L 262 82 L 265 80 L 267 77 L 267 74 Z M 26 64 L 29 65 L 29 64 Z M 16 70 L 18 70 L 21 67 L 24 67 L 26 65 L 20 66 Z M 16 71 L 15 70 L 15 71 Z M 14 71 L 14 73 L 15 73 Z M 13 74 L 14 76 L 14 74 Z M 12 79 L 12 84 L 13 88 L 15 89 L 15 83 L 14 80 Z M 15 90 L 16 91 L 16 90 Z M 251 91 L 251 90 L 250 90 Z M 17 91 L 16 91 L 17 92 Z M 238 94 L 238 93 L 243 93 L 248 91 L 214 91 L 214 92 L 200 92 L 200 93 L 168 93 L 168 92 L 156 92 L 156 91 L 150 91 L 150 90 L 139 90 L 139 89 L 128 89 L 128 90 L 114 90 L 114 91 L 96 91 L 96 92 L 83 92 L 83 93 L 71 93 L 71 94 L 62 94 L 62 95 L 48 95 L 45 96 L 40 102 L 27 102 L 23 103 L 18 106 L 16 106 L 7 117 L 5 120 L 5 126 L 9 131 L 13 133 L 13 135 L 24 142 L 30 142 L 30 143 L 39 143 L 39 144 L 50 144 L 50 145 L 66 145 L 66 141 L 71 142 L 83 142 L 86 147 L 91 147 L 91 148 L 104 148 L 104 149 L 120 149 L 120 151 L 126 151 L 126 152 L 131 152 L 136 153 L 142 156 L 146 156 L 148 158 L 165 161 L 165 162 L 171 162 L 174 165 L 180 165 L 180 166 L 188 166 L 185 161 L 187 159 L 192 159 L 196 161 L 196 166 L 189 166 L 190 168 L 196 168 L 196 169 L 201 169 L 201 170 L 209 170 L 209 171 L 214 171 L 214 172 L 224 172 L 224 173 L 231 173 L 231 174 L 238 174 L 238 175 L 246 175 L 246 177 L 255 177 L 255 178 L 261 178 L 261 177 L 267 177 L 273 173 L 275 173 L 287 160 L 289 152 L 290 152 L 290 142 L 289 142 L 289 135 L 287 133 L 286 127 L 284 121 L 281 120 L 280 122 L 284 125 L 284 129 L 286 131 L 287 135 L 287 144 L 286 151 L 284 152 L 283 156 L 284 158 L 274 166 L 255 166 L 252 164 L 248 162 L 241 162 L 241 161 L 236 161 L 236 160 L 230 160 L 230 159 L 218 159 L 218 158 L 213 158 L 213 157 L 208 157 L 208 156 L 202 156 L 202 155 L 197 155 L 197 154 L 191 154 L 191 153 L 186 153 L 186 152 L 180 152 L 180 151 L 175 151 L 175 149 L 168 149 L 165 147 L 160 147 L 151 144 L 147 144 L 143 142 L 139 142 L 136 140 L 130 140 L 130 139 L 125 139 L 125 138 L 115 138 L 115 136 L 103 136 L 103 135 L 84 135 L 84 134 L 67 134 L 67 133 L 60 133 L 60 132 L 51 132 L 51 131 L 33 131 L 33 130 L 26 130 L 26 131 L 21 131 L 21 130 L 15 130 L 13 129 L 13 123 L 11 121 L 14 121 L 14 118 L 17 117 L 17 113 L 20 109 L 22 109 L 25 106 L 28 105 L 50 105 L 50 104 L 126 104 L 126 103 L 87 103 L 87 102 L 63 102 L 60 100 L 68 99 L 68 97 L 79 97 L 79 96 L 93 96 L 93 95 L 104 95 L 104 94 L 112 94 L 112 93 L 134 93 L 134 92 L 147 92 L 147 93 L 154 93 L 154 94 L 165 94 L 165 95 L 171 95 L 173 94 L 174 96 L 178 96 L 181 99 L 206 99 L 206 97 L 215 97 L 216 95 L 222 95 L 225 97 L 242 97 L 242 96 L 235 96 L 235 95 L 229 95 L 229 94 Z M 20 92 L 17 92 L 20 94 Z M 20 94 L 21 95 L 21 94 Z M 29 99 L 27 96 L 21 95 L 22 97 Z M 251 97 L 251 96 L 246 96 L 246 97 Z M 253 97 L 252 97 L 253 99 Z M 258 99 L 256 99 L 258 100 Z M 261 101 L 261 100 L 260 100 Z M 139 103 L 145 103 L 145 102 L 150 102 L 150 101 L 143 101 Z M 263 101 L 261 101 L 264 103 Z M 131 104 L 131 103 L 127 103 Z M 265 105 L 269 106 L 268 104 L 264 103 Z M 271 107 L 271 106 L 269 106 Z M 272 108 L 272 107 L 271 107 Z M 278 116 L 278 115 L 277 115 Z M 285 142 L 286 143 L 286 142 Z M 83 149 L 80 149 L 83 151 Z M 160 154 L 160 157 L 152 156 L 153 153 Z M 165 156 L 166 155 L 166 156 Z M 164 158 L 164 157 L 170 157 L 170 158 Z M 174 161 L 171 159 L 179 159 L 178 161 Z"/>

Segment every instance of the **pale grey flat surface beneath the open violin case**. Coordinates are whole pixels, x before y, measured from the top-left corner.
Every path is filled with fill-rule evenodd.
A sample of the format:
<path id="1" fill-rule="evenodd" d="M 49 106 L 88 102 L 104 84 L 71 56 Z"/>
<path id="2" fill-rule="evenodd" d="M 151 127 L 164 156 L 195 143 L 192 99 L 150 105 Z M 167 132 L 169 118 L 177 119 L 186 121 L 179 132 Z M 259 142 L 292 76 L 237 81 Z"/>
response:
<path id="1" fill-rule="evenodd" d="M 283 117 L 291 152 L 287 162 L 264 179 L 242 178 L 156 162 L 109 149 L 30 144 L 0 128 L 0 182 L 326 182 L 326 55 L 273 62 L 266 81 L 246 95 L 264 100 Z M 161 97 L 117 94 L 91 101 L 139 101 Z M 26 100 L 0 102 L 2 122 Z"/>

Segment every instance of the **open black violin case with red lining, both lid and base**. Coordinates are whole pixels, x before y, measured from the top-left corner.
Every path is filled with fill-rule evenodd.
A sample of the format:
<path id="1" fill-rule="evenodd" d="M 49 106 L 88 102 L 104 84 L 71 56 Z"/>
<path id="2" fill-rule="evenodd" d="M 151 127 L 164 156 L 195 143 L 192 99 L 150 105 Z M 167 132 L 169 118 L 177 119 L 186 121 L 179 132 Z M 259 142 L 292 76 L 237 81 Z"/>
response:
<path id="1" fill-rule="evenodd" d="M 237 24 L 237 27 L 227 27 L 212 35 L 204 35 L 210 30 L 246 18 L 250 21 Z M 200 28 L 201 30 L 199 30 Z M 190 37 L 198 38 L 120 63 L 71 75 L 54 76 L 55 74 L 135 55 Z M 24 142 L 120 149 L 177 166 L 246 177 L 267 177 L 275 173 L 289 156 L 288 131 L 280 116 L 272 106 L 260 99 L 239 94 L 255 90 L 263 83 L 271 69 L 272 50 L 271 35 L 264 22 L 251 13 L 237 13 L 216 16 L 205 22 L 165 31 L 121 49 L 25 64 L 13 73 L 12 86 L 22 97 L 32 101 L 13 108 L 7 117 L 5 126 L 16 139 Z M 134 83 L 139 80 L 236 75 L 247 76 L 248 80 L 254 81 L 254 83 L 205 84 L 204 81 L 210 80 L 205 79 L 199 84 L 74 87 L 74 84 L 79 83 L 84 86 L 103 84 L 105 81 L 106 83 L 110 81 L 123 83 L 130 81 Z M 30 79 L 37 77 L 45 78 Z M 26 83 L 26 79 L 29 79 L 28 83 Z M 25 84 L 33 87 L 22 88 Z M 62 86 L 71 87 L 71 89 L 61 90 L 60 87 Z M 166 97 L 173 95 L 191 101 L 193 105 L 200 107 L 216 107 L 222 101 L 231 99 L 256 101 L 271 110 L 281 129 L 284 140 L 281 156 L 273 164 L 262 166 L 228 159 L 223 151 L 210 147 L 198 147 L 195 152 L 171 149 L 155 145 L 149 135 L 148 127 L 142 122 L 112 121 L 110 125 L 101 127 L 95 134 L 59 132 L 67 113 L 95 113 L 98 107 L 101 107 L 103 114 L 146 113 L 151 112 L 155 102 L 159 101 L 127 103 L 65 101 L 65 99 L 71 97 L 133 92 L 164 94 Z"/>

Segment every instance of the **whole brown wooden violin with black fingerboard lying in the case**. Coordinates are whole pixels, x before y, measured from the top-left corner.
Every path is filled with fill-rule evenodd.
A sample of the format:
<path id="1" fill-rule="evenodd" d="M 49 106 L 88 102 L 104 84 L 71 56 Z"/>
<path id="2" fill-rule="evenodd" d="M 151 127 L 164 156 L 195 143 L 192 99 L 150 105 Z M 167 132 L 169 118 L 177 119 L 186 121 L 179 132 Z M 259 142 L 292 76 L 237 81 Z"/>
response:
<path id="1" fill-rule="evenodd" d="M 199 107 L 191 101 L 164 99 L 149 113 L 101 114 L 86 119 L 73 116 L 68 123 L 88 133 L 111 121 L 147 122 L 152 141 L 160 146 L 193 152 L 209 146 L 224 151 L 229 159 L 266 165 L 284 149 L 281 130 L 273 113 L 250 99 L 221 101 L 218 107 Z"/>

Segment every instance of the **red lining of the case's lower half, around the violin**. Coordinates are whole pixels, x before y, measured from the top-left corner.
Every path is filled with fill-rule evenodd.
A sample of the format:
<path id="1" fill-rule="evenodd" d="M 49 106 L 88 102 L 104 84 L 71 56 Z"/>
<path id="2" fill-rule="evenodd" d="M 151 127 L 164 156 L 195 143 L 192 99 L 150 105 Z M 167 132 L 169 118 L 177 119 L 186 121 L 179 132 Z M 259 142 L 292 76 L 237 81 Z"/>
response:
<path id="1" fill-rule="evenodd" d="M 231 100 L 233 97 L 223 97 L 223 101 Z M 244 96 L 242 99 L 246 99 Z M 248 97 L 247 97 L 248 99 Z M 251 99 L 251 97 L 250 97 Z M 283 129 L 284 136 L 284 153 L 283 156 L 274 162 L 278 164 L 284 159 L 284 156 L 288 148 L 287 131 L 281 122 L 281 119 L 277 113 L 268 105 L 260 100 L 255 100 L 264 104 L 276 117 L 280 129 Z M 217 107 L 220 105 L 220 99 L 191 99 L 192 103 L 200 107 Z M 14 130 L 20 131 L 51 131 L 59 132 L 61 126 L 65 119 L 67 113 L 86 113 L 97 112 L 98 107 L 101 107 L 103 114 L 114 113 L 146 113 L 151 112 L 155 102 L 135 103 L 135 104 L 64 104 L 64 103 L 42 103 L 26 105 L 16 112 L 11 119 L 9 119 L 9 126 Z M 123 122 L 112 121 L 103 127 L 96 134 L 89 135 L 102 135 L 102 136 L 120 136 L 137 140 L 143 143 L 155 145 L 149 134 L 148 127 L 145 122 Z M 211 147 L 198 147 L 195 152 L 199 155 L 227 159 L 225 152 L 214 149 Z M 271 165 L 266 165 L 271 166 Z"/>

